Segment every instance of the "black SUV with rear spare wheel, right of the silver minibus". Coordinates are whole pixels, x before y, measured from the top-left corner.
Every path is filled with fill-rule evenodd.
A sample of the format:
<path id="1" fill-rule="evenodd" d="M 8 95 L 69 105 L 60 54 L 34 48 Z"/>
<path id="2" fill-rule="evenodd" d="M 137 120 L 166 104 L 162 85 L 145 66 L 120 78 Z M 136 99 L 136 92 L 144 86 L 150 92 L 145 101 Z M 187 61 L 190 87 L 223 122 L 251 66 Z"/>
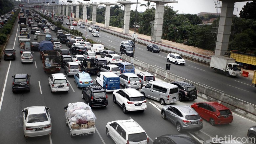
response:
<path id="1" fill-rule="evenodd" d="M 179 101 L 197 99 L 197 89 L 193 84 L 185 81 L 176 81 L 172 84 L 179 88 Z"/>

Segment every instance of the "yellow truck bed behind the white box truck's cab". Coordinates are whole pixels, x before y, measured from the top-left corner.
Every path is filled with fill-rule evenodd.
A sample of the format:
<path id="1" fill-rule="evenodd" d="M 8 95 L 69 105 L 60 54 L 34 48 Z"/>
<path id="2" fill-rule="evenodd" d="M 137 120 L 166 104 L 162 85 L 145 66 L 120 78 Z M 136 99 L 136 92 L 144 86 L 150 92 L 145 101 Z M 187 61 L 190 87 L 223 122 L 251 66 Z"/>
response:
<path id="1" fill-rule="evenodd" d="M 230 51 L 230 57 L 236 60 L 236 63 L 243 66 L 245 70 L 256 68 L 256 55 L 239 51 Z"/>

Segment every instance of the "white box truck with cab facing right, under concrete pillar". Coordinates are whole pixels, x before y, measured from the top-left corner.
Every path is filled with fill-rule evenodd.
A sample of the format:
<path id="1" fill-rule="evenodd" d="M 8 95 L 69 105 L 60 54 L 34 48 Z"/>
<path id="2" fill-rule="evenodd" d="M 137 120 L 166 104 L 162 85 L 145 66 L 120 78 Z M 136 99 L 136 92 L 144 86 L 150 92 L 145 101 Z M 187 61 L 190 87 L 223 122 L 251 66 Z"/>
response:
<path id="1" fill-rule="evenodd" d="M 241 75 L 241 67 L 235 62 L 236 60 L 230 57 L 212 55 L 210 68 L 213 68 L 216 73 L 221 72 L 226 76 L 236 77 Z"/>

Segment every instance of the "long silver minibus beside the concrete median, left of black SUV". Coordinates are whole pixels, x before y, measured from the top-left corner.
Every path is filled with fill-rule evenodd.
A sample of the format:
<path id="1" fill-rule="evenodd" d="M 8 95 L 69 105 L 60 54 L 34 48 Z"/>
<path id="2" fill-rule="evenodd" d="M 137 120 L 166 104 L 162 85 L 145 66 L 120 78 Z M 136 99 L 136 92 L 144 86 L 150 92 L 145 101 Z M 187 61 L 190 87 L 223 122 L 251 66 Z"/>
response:
<path id="1" fill-rule="evenodd" d="M 179 88 L 176 85 L 162 82 L 151 81 L 141 88 L 145 97 L 160 101 L 161 105 L 179 101 Z"/>

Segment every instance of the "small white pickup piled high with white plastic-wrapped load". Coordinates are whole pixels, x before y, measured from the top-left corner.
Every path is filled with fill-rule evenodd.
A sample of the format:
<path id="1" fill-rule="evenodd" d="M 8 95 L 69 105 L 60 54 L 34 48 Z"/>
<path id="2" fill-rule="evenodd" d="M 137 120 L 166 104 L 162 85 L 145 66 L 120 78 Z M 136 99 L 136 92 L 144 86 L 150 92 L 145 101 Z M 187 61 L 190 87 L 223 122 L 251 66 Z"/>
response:
<path id="1" fill-rule="evenodd" d="M 70 136 L 85 136 L 95 133 L 96 116 L 89 105 L 83 102 L 69 103 L 64 110 Z"/>

